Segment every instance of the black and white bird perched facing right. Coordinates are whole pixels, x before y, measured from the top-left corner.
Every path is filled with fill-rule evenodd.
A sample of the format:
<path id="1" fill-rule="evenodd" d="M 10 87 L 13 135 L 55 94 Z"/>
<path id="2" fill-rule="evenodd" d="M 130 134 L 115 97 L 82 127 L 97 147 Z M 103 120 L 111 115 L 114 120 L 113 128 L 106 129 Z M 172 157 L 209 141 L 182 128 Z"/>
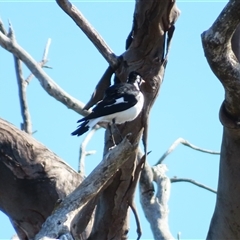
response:
<path id="1" fill-rule="evenodd" d="M 144 82 L 140 74 L 131 72 L 126 83 L 110 86 L 92 112 L 78 121 L 81 123 L 72 135 L 80 136 L 98 122 L 122 124 L 134 120 L 143 108 L 144 97 L 140 86 Z"/>

